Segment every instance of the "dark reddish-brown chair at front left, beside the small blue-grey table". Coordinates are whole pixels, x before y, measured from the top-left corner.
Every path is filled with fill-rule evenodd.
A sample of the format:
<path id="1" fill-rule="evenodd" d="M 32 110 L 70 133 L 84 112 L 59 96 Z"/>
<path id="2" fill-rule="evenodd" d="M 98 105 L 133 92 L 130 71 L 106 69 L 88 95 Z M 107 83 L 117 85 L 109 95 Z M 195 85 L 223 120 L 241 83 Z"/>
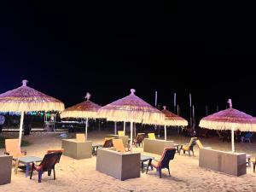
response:
<path id="1" fill-rule="evenodd" d="M 38 183 L 41 183 L 43 172 L 48 172 L 48 176 L 50 176 L 51 171 L 53 170 L 55 179 L 55 164 L 61 159 L 61 154 L 61 152 L 45 154 L 44 159 L 39 166 L 32 163 L 30 179 L 32 179 L 32 173 L 35 170 L 38 172 Z"/>

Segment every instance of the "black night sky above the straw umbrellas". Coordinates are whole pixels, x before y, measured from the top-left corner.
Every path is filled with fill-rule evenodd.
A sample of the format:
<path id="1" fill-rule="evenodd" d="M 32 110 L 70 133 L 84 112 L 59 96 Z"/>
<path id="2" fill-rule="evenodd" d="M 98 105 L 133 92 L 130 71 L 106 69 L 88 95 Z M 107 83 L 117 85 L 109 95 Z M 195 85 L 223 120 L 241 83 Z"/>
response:
<path id="1" fill-rule="evenodd" d="M 84 2 L 84 1 L 83 1 Z M 0 92 L 22 79 L 71 106 L 107 104 L 131 88 L 186 116 L 189 93 L 208 105 L 256 116 L 252 4 L 97 4 L 32 1 L 1 6 Z"/>

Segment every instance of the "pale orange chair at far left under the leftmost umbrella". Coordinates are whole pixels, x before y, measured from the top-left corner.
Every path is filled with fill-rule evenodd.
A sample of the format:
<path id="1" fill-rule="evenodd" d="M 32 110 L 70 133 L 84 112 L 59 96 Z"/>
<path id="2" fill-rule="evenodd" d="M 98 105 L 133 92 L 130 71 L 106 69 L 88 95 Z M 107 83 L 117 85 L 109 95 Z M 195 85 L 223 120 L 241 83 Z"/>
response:
<path id="1" fill-rule="evenodd" d="M 21 151 L 19 139 L 5 139 L 4 154 L 11 155 L 13 159 L 17 159 L 18 157 L 26 155 L 26 151 Z"/>

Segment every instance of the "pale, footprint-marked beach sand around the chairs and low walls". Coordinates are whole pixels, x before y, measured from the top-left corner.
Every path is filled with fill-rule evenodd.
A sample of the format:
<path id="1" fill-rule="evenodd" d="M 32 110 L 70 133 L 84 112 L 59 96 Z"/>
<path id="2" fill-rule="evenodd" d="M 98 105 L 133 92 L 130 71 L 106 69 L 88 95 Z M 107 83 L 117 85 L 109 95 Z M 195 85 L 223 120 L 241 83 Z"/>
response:
<path id="1" fill-rule="evenodd" d="M 89 140 L 102 143 L 102 138 L 108 132 L 90 132 Z M 16 133 L 4 133 L 10 137 L 17 137 Z M 61 148 L 60 133 L 33 132 L 26 137 L 32 143 L 26 148 L 27 155 L 44 157 L 49 148 Z M 72 134 L 70 134 L 72 136 Z M 189 138 L 183 136 L 170 136 L 175 143 L 188 143 Z M 230 150 L 230 143 L 218 141 L 217 137 L 201 139 L 205 146 L 221 150 Z M 236 151 L 247 152 L 256 156 L 255 143 L 236 143 Z M 135 148 L 135 151 L 143 152 L 143 148 Z M 3 149 L 0 149 L 3 154 Z M 153 155 L 156 159 L 160 156 Z M 195 147 L 195 157 L 188 154 L 176 154 L 171 161 L 171 177 L 167 170 L 163 171 L 163 177 L 159 178 L 157 172 L 142 173 L 141 177 L 119 181 L 101 172 L 96 172 L 96 157 L 86 160 L 74 160 L 67 156 L 61 156 L 61 162 L 56 166 L 56 180 L 44 173 L 42 183 L 38 183 L 38 173 L 32 177 L 25 177 L 21 170 L 15 175 L 12 172 L 12 181 L 6 185 L 0 185 L 0 191 L 256 191 L 256 173 L 253 167 L 247 167 L 247 174 L 241 177 L 225 175 L 213 172 L 198 166 L 198 148 Z"/>

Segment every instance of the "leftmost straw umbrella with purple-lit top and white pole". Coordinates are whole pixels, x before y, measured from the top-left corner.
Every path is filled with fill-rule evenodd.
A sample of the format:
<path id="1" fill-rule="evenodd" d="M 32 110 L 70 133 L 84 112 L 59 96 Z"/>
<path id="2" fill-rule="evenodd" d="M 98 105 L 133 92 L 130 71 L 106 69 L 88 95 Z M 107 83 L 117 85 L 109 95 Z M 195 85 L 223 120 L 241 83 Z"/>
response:
<path id="1" fill-rule="evenodd" d="M 47 96 L 38 90 L 27 86 L 27 80 L 22 80 L 22 85 L 15 90 L 9 90 L 0 95 L 0 111 L 20 112 L 20 135 L 21 142 L 24 112 L 29 111 L 62 111 L 63 102 L 54 97 Z"/>

